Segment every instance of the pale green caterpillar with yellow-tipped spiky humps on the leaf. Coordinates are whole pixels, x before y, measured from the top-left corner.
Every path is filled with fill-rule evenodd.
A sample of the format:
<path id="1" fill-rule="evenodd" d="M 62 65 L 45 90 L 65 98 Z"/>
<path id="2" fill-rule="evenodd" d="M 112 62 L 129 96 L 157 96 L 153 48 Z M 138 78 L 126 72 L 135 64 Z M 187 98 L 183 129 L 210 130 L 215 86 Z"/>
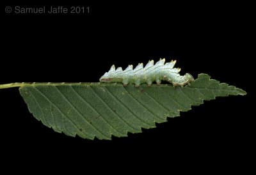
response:
<path id="1" fill-rule="evenodd" d="M 194 80 L 190 73 L 182 76 L 179 74 L 180 68 L 173 68 L 176 60 L 165 65 L 164 62 L 165 59 L 160 59 L 154 65 L 154 60 L 151 60 L 148 61 L 145 68 L 143 68 L 143 63 L 139 63 L 134 70 L 133 66 L 129 65 L 124 71 L 120 67 L 115 69 L 115 65 L 113 65 L 109 72 L 104 73 L 100 78 L 100 82 L 122 82 L 124 86 L 131 83 L 135 84 L 135 87 L 146 82 L 150 87 L 154 81 L 157 85 L 161 84 L 161 80 L 166 80 L 173 86 L 184 86 Z"/>

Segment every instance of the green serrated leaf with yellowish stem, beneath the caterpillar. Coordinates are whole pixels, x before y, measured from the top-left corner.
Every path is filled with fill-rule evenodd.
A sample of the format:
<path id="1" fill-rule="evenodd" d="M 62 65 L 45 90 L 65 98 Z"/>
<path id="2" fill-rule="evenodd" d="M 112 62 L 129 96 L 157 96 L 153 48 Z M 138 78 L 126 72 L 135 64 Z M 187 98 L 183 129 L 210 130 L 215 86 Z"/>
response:
<path id="1" fill-rule="evenodd" d="M 29 111 L 56 132 L 86 139 L 111 139 L 138 133 L 141 128 L 154 128 L 167 117 L 180 116 L 191 105 L 216 96 L 246 95 L 235 86 L 200 74 L 185 87 L 170 84 L 140 88 L 133 85 L 102 83 L 16 83 L 1 88 L 20 87 L 20 95 Z"/>

